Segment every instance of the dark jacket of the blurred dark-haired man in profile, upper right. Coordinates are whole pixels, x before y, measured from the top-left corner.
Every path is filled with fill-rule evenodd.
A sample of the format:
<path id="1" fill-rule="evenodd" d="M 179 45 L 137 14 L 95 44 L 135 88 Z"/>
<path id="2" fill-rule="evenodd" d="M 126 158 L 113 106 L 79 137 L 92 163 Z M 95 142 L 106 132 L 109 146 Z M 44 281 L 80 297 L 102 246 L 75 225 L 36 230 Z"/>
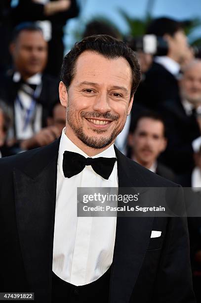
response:
<path id="1" fill-rule="evenodd" d="M 154 62 L 145 73 L 145 79 L 140 83 L 134 101 L 154 110 L 166 100 L 179 100 L 178 82 L 161 64 Z"/>

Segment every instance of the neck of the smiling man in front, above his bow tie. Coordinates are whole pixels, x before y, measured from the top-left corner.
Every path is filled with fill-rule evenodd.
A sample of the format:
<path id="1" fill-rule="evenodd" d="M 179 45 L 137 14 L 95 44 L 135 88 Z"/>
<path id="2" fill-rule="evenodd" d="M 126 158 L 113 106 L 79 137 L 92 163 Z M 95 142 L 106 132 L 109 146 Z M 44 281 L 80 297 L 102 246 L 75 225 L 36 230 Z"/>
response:
<path id="1" fill-rule="evenodd" d="M 75 136 L 74 133 L 72 134 L 71 131 L 67 128 L 67 126 L 65 130 L 65 134 L 80 150 L 82 150 L 82 152 L 85 152 L 89 157 L 107 150 L 114 143 L 112 142 L 111 144 L 109 144 L 103 149 L 94 149 L 85 145 L 77 136 Z"/>

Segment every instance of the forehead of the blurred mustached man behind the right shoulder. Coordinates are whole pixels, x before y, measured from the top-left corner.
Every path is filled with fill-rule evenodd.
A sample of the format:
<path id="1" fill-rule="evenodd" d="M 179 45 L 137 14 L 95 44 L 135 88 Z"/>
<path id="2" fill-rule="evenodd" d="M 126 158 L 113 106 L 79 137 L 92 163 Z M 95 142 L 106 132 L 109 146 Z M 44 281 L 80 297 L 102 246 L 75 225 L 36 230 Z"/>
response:
<path id="1" fill-rule="evenodd" d="M 146 130 L 149 133 L 161 134 L 163 132 L 163 123 L 160 120 L 155 120 L 149 117 L 141 118 L 137 123 L 138 130 Z"/>

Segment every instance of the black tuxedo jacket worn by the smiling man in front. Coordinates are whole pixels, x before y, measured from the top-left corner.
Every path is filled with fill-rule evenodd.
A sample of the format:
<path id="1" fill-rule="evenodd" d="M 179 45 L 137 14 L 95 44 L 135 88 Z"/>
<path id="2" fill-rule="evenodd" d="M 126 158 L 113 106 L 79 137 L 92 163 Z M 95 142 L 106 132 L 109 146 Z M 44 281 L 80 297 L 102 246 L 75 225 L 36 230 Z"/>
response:
<path id="1" fill-rule="evenodd" d="M 0 159 L 0 287 L 51 302 L 59 139 Z M 115 148 L 120 187 L 174 187 Z M 151 231 L 161 237 L 151 238 Z M 118 217 L 110 303 L 194 303 L 185 218 Z"/>

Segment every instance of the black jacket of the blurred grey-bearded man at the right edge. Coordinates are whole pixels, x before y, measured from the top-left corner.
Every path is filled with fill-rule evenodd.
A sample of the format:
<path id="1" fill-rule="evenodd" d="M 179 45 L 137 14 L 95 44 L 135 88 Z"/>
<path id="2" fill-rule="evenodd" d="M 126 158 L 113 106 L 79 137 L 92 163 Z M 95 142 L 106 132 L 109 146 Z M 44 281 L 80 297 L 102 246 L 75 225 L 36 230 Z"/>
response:
<path id="1" fill-rule="evenodd" d="M 195 166 L 192 142 L 201 135 L 196 116 L 188 116 L 181 101 L 167 100 L 159 111 L 165 121 L 168 139 L 161 161 L 176 174 L 190 174 Z"/>

